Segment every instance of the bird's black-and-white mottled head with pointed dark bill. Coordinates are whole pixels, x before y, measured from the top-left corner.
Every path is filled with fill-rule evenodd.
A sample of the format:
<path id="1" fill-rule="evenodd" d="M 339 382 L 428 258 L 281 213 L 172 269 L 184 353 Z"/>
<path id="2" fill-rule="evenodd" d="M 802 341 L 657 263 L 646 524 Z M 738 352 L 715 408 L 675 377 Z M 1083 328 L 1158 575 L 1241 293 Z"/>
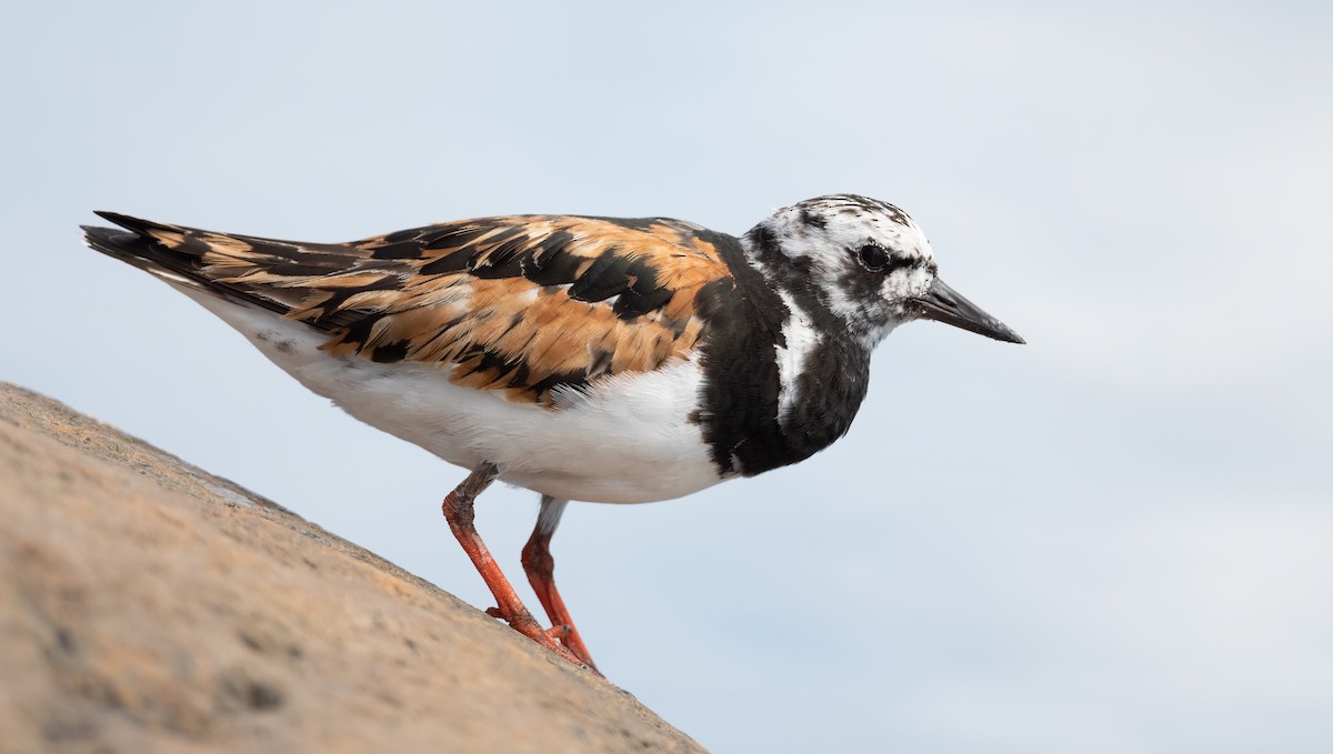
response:
<path id="1" fill-rule="evenodd" d="M 809 198 L 756 225 L 745 246 L 797 306 L 832 313 L 868 348 L 912 320 L 1024 342 L 938 278 L 930 242 L 892 204 L 854 194 Z"/>

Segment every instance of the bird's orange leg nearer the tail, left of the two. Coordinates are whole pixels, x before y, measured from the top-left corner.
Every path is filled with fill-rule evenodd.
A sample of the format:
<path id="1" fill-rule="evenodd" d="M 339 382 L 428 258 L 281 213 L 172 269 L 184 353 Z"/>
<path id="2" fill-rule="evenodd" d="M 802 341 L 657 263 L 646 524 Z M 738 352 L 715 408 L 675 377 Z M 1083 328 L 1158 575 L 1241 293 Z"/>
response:
<path id="1" fill-rule="evenodd" d="M 444 518 L 449 522 L 449 530 L 453 532 L 459 544 L 463 545 L 463 550 L 472 558 L 472 565 L 477 567 L 477 573 L 485 579 L 487 586 L 491 587 L 491 594 L 496 598 L 499 607 L 493 609 L 493 613 L 492 610 L 487 610 L 487 613 L 497 618 L 504 618 L 513 630 L 569 662 L 584 665 L 579 657 L 547 633 L 537 623 L 536 618 L 532 617 L 532 613 L 524 607 L 513 586 L 509 585 L 509 579 L 500 571 L 500 566 L 491 557 L 491 550 L 487 549 L 485 542 L 481 541 L 481 536 L 477 534 L 477 529 L 473 525 L 476 513 L 473 512 L 472 502 L 481 490 L 487 489 L 495 481 L 497 473 L 493 464 L 481 464 L 477 470 L 463 480 L 463 484 L 457 489 L 449 493 L 449 497 L 444 498 Z"/>

